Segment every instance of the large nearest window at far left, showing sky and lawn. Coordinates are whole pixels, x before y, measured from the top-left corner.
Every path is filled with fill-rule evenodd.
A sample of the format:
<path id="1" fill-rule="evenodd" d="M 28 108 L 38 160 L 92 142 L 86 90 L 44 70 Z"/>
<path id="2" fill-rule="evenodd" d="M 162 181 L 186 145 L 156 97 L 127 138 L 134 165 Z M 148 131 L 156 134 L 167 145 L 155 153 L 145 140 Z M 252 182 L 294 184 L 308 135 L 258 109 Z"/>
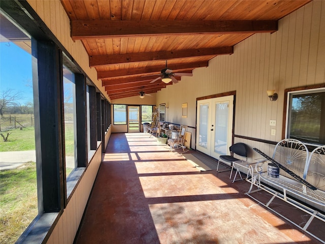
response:
<path id="1" fill-rule="evenodd" d="M 38 215 L 31 40 L 2 13 L 0 18 L 0 148 L 11 162 L 17 159 L 9 151 L 21 151 L 25 159 L 0 171 L 0 242 L 15 243 Z"/>

